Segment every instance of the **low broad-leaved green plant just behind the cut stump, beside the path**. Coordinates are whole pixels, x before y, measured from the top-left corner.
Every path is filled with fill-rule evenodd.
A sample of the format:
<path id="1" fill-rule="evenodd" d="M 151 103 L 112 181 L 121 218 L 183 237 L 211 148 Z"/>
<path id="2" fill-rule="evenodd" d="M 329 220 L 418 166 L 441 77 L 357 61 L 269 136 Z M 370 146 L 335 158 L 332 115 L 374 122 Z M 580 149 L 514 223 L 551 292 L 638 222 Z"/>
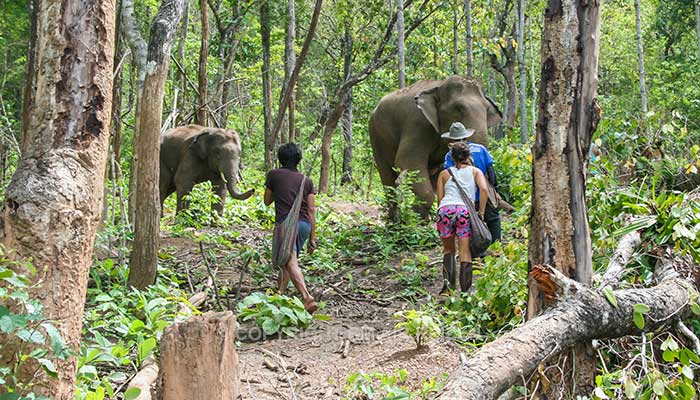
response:
<path id="1" fill-rule="evenodd" d="M 280 294 L 255 292 L 246 296 L 237 307 L 241 321 L 254 320 L 265 335 L 283 333 L 291 337 L 307 328 L 314 319 L 299 298 Z"/>

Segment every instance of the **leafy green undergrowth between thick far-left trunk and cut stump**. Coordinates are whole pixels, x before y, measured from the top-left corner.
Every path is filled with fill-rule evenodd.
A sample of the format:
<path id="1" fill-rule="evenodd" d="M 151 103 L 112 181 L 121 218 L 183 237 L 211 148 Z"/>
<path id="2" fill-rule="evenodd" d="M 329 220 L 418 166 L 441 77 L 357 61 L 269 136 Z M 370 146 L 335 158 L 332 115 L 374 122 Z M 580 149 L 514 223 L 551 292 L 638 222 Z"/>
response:
<path id="1" fill-rule="evenodd" d="M 158 281 L 143 291 L 127 287 L 127 274 L 127 266 L 111 259 L 91 268 L 76 400 L 115 397 L 127 373 L 157 351 L 163 329 L 183 317 L 179 308 L 187 300 L 169 270 L 160 269 Z"/>

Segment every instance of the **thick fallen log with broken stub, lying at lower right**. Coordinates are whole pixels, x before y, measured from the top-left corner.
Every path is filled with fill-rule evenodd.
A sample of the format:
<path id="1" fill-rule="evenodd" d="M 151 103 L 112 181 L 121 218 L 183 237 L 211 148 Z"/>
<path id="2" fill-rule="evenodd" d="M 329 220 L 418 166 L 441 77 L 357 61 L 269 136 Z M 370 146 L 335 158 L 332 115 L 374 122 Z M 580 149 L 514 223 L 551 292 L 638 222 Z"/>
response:
<path id="1" fill-rule="evenodd" d="M 654 331 L 687 317 L 691 295 L 697 295 L 687 281 L 672 277 L 648 289 L 614 291 L 613 306 L 603 294 L 548 265 L 534 267 L 530 279 L 550 302 L 557 303 L 474 353 L 452 375 L 438 399 L 496 399 L 544 360 L 576 343 L 642 333 L 633 322 L 635 304 L 649 306 L 644 331 Z"/>

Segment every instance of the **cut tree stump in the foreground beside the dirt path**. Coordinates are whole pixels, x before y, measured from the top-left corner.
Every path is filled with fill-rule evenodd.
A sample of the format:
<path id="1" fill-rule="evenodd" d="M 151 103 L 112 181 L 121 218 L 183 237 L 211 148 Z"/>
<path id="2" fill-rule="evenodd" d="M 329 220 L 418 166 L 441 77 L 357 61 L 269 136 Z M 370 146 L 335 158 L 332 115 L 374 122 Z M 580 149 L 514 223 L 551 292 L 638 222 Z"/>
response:
<path id="1" fill-rule="evenodd" d="M 238 398 L 236 316 L 194 316 L 165 329 L 160 344 L 161 400 Z"/>

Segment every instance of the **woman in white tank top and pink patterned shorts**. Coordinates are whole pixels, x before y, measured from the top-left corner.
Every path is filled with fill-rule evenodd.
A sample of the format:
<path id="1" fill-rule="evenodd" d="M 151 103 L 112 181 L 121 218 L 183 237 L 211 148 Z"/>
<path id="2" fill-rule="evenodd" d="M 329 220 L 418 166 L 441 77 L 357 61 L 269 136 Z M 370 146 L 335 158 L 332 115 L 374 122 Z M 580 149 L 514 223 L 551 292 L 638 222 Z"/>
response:
<path id="1" fill-rule="evenodd" d="M 467 192 L 472 201 L 476 197 L 477 186 L 481 193 L 487 193 L 488 188 L 484 174 L 478 168 L 468 165 L 468 161 L 471 159 L 471 152 L 466 143 L 455 143 L 452 145 L 451 153 L 455 161 L 455 166 L 450 168 L 454 178 L 450 175 L 450 171 L 444 170 L 438 176 L 437 181 L 437 229 L 443 246 L 442 271 L 444 284 L 442 292 L 445 292 L 448 287 L 454 289 L 456 284 L 455 235 L 457 235 L 457 240 L 459 241 L 459 285 L 461 290 L 465 292 L 472 285 L 472 256 L 469 251 L 470 218 L 484 218 L 488 197 L 479 196 L 479 204 L 477 205 L 479 216 L 469 215 L 455 179 Z"/>

